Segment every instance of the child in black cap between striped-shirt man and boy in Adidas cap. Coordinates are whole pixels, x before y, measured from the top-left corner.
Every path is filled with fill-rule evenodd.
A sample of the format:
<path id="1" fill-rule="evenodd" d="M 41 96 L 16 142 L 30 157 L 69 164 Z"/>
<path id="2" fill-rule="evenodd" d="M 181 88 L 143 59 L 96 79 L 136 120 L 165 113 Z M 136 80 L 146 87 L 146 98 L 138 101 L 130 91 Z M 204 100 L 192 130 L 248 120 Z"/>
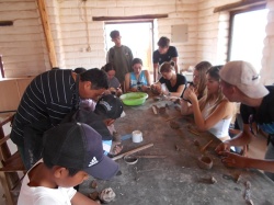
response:
<path id="1" fill-rule="evenodd" d="M 123 103 L 121 100 L 113 94 L 106 94 L 99 99 L 94 112 L 89 107 L 80 107 L 68 114 L 61 123 L 80 122 L 90 125 L 102 136 L 104 153 L 117 155 L 121 152 L 122 146 L 118 143 L 113 143 L 113 132 L 115 132 L 113 123 L 122 113 Z"/>

